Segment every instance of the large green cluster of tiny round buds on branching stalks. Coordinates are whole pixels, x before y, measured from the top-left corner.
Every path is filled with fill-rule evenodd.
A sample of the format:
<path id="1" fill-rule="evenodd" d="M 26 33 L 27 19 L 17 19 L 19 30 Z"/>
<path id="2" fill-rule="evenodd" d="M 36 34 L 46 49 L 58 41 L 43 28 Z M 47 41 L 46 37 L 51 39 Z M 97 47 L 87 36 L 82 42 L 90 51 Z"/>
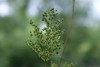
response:
<path id="1" fill-rule="evenodd" d="M 63 19 L 57 19 L 57 15 L 57 10 L 54 10 L 54 8 L 43 13 L 42 21 L 45 22 L 46 27 L 42 31 L 38 25 L 30 20 L 30 24 L 33 26 L 33 30 L 30 31 L 30 37 L 34 36 L 36 40 L 33 41 L 30 38 L 27 40 L 27 44 L 43 61 L 49 61 L 53 55 L 59 53 L 59 50 L 63 46 L 63 41 L 61 40 L 63 30 L 59 30 L 59 25 Z"/>

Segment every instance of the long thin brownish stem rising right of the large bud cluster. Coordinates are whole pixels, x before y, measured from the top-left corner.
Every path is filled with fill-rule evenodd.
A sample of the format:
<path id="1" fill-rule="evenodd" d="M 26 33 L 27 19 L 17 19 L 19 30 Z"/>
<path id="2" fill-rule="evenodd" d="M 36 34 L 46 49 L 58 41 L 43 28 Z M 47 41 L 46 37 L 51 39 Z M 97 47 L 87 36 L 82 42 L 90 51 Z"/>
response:
<path id="1" fill-rule="evenodd" d="M 62 58 L 63 58 L 64 52 L 65 52 L 65 48 L 66 48 L 67 43 L 68 43 L 69 38 L 70 38 L 70 33 L 71 33 L 71 30 L 72 30 L 72 23 L 73 23 L 73 19 L 74 19 L 74 3 L 75 3 L 75 0 L 72 0 L 72 21 L 71 21 L 70 26 L 68 28 L 69 30 L 68 30 L 67 38 L 66 38 L 65 43 L 64 43 L 64 48 L 63 48 L 63 51 L 62 51 L 62 54 L 61 54 L 61 58 L 58 62 L 58 67 L 60 67 L 60 65 L 61 65 Z"/>

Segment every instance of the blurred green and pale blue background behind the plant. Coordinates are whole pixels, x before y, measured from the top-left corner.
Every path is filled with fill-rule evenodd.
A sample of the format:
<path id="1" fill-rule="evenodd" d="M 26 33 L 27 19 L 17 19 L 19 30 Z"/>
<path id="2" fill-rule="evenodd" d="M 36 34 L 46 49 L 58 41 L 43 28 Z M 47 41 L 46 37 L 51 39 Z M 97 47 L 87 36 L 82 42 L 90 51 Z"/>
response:
<path id="1" fill-rule="evenodd" d="M 41 23 L 41 15 L 55 8 L 64 18 L 66 39 L 71 22 L 72 0 L 0 0 L 0 67 L 44 67 L 44 63 L 25 41 L 29 37 L 29 20 Z M 59 60 L 57 55 L 53 58 Z M 76 0 L 70 41 L 63 57 L 77 67 L 100 67 L 100 0 Z"/>

